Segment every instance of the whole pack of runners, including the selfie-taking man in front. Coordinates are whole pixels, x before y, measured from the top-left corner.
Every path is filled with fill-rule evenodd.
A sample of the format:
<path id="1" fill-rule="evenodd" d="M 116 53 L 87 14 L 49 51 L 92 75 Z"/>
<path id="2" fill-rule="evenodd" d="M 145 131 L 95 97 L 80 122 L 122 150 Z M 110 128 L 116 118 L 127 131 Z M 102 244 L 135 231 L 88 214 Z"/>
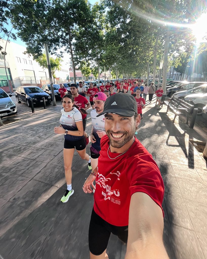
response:
<path id="1" fill-rule="evenodd" d="M 90 82 L 87 91 L 82 82 L 79 86 L 71 84 L 71 94 L 62 97 L 60 126 L 54 128 L 65 138 L 67 189 L 61 202 L 67 202 L 74 192 L 71 166 L 76 149 L 91 170 L 83 191 L 94 192 L 88 231 L 90 258 L 108 258 L 106 249 L 111 233 L 127 243 L 127 259 L 168 258 L 162 241 L 163 180 L 152 155 L 134 136 L 145 108 L 145 98 L 141 97 L 144 87 L 141 80 L 131 81 L 131 85 L 117 82 L 99 89 Z M 130 86 L 131 94 L 127 94 Z M 89 101 L 84 95 L 90 96 Z M 89 137 L 85 129 L 90 106 L 93 109 Z M 86 153 L 89 138 L 90 156 Z"/>

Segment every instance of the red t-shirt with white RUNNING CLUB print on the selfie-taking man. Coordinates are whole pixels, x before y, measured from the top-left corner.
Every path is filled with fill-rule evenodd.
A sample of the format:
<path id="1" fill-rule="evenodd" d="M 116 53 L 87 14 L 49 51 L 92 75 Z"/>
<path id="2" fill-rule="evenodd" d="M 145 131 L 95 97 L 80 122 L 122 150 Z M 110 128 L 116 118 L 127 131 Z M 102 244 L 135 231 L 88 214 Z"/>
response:
<path id="1" fill-rule="evenodd" d="M 104 135 L 94 193 L 95 213 L 109 224 L 127 226 L 131 195 L 135 192 L 146 193 L 162 208 L 164 184 L 159 168 L 139 140 L 135 138 L 131 148 L 114 160 L 107 155 L 108 147 L 109 139 Z M 110 157 L 118 155 L 109 149 Z"/>

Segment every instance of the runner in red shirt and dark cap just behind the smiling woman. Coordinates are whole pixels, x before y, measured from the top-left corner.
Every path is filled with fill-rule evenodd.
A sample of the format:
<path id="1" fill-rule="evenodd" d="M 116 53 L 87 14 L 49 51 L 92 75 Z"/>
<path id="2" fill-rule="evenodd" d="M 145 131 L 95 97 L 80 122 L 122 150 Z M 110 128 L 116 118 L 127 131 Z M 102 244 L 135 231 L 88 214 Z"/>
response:
<path id="1" fill-rule="evenodd" d="M 74 98 L 74 105 L 76 105 L 82 115 L 83 120 L 83 135 L 86 141 L 86 145 L 89 143 L 89 135 L 85 132 L 86 130 L 86 124 L 87 124 L 87 112 L 90 108 L 90 102 L 86 99 L 86 97 L 78 94 L 78 86 L 76 84 L 71 84 L 70 91 L 72 93 L 72 96 Z"/>

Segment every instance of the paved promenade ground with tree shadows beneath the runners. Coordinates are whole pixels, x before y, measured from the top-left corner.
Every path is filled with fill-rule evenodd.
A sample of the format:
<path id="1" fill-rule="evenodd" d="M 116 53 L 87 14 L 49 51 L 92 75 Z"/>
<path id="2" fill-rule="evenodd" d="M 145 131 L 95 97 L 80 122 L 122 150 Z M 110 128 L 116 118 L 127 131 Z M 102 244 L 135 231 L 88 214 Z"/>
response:
<path id="1" fill-rule="evenodd" d="M 152 154 L 165 184 L 164 243 L 171 259 L 207 259 L 207 171 L 202 153 L 189 142 L 205 141 L 206 133 L 175 124 L 152 104 L 143 110 L 137 138 Z M 88 226 L 93 194 L 82 186 L 87 163 L 75 153 L 74 194 L 60 203 L 65 190 L 61 104 L 20 114 L 0 128 L 0 258 L 88 259 Z M 91 110 L 90 110 L 91 111 Z M 87 130 L 91 131 L 88 115 Z M 87 147 L 89 153 L 90 145 Z M 110 237 L 109 258 L 123 259 L 126 246 Z"/>

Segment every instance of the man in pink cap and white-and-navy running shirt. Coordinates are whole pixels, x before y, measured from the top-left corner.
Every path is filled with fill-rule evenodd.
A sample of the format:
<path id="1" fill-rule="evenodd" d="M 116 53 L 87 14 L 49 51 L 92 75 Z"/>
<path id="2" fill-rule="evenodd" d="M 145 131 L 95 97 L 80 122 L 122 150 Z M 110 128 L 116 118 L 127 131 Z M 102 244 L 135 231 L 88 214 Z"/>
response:
<path id="1" fill-rule="evenodd" d="M 93 103 L 95 106 L 95 110 L 91 111 L 91 121 L 92 121 L 92 129 L 91 129 L 91 166 L 92 170 L 94 170 L 98 165 L 98 157 L 100 155 L 100 141 L 102 136 L 106 135 L 105 132 L 105 118 L 104 115 L 100 117 L 96 117 L 99 113 L 104 110 L 104 103 L 107 99 L 105 93 L 99 92 L 94 95 Z"/>

